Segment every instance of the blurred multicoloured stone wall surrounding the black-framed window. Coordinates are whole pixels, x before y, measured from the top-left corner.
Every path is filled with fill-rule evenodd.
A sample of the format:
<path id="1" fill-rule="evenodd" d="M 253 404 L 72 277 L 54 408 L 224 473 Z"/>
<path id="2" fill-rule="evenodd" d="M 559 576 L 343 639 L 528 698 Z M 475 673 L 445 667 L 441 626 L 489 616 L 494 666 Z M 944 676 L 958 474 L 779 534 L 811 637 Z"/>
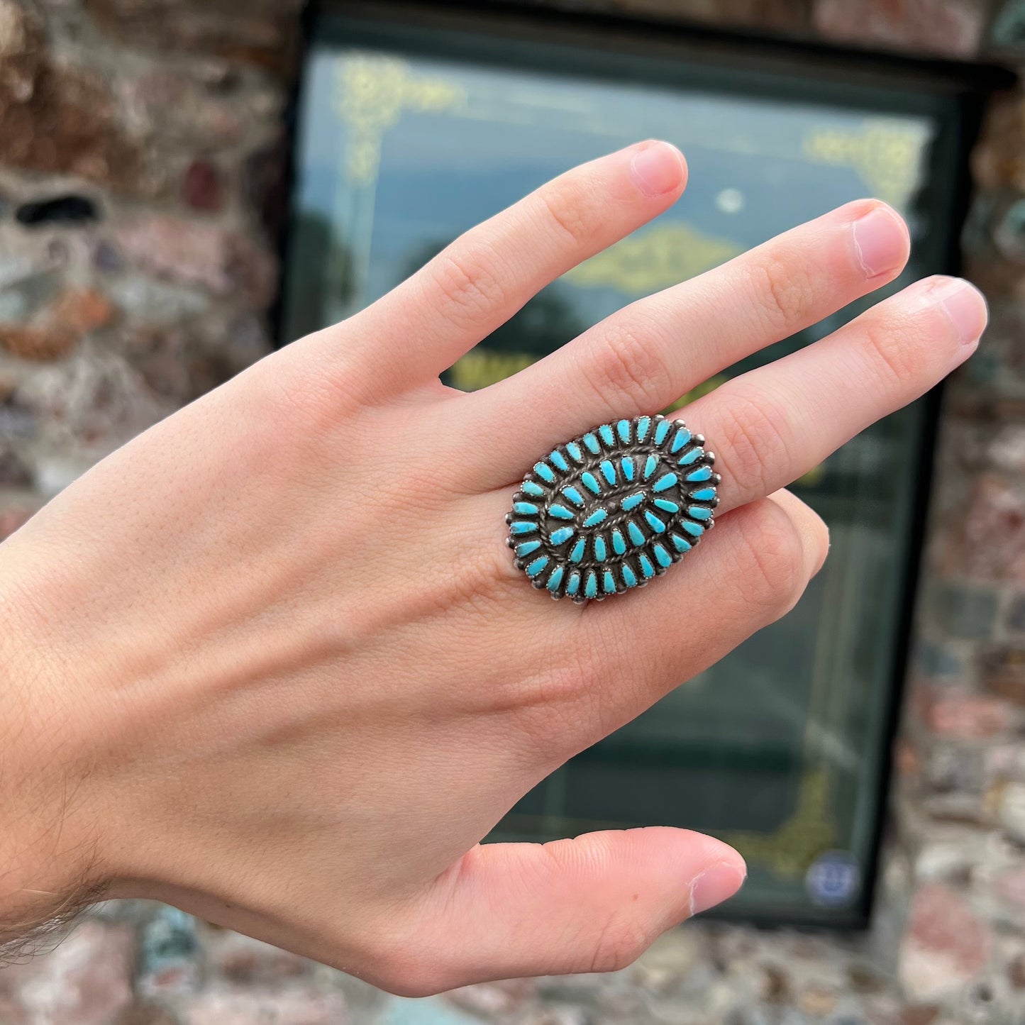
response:
<path id="1" fill-rule="evenodd" d="M 270 347 L 299 0 L 0 0 L 0 536 Z M 1025 65 L 1025 3 L 566 0 Z M 856 937 L 696 922 L 610 976 L 387 997 L 141 902 L 0 973 L 2 1025 L 1025 1022 L 1025 95 L 973 159 L 992 324 L 948 388 L 877 906 Z"/>

